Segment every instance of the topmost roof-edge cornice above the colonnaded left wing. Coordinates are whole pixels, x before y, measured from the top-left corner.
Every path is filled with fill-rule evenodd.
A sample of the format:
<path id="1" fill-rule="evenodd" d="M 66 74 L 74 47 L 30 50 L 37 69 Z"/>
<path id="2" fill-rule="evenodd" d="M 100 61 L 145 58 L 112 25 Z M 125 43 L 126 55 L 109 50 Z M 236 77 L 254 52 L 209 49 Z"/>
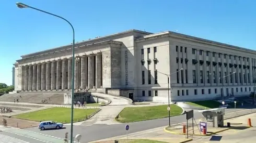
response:
<path id="1" fill-rule="evenodd" d="M 123 35 L 123 34 L 131 33 L 131 32 L 142 33 L 142 34 L 152 34 L 150 32 L 145 32 L 145 31 L 132 29 L 132 30 L 127 30 L 127 31 L 120 32 L 120 33 L 111 34 L 111 35 L 96 37 L 94 39 L 83 41 L 83 42 L 78 42 L 78 43 L 75 43 L 75 47 L 77 47 L 79 45 L 85 45 L 86 43 L 90 43 L 90 42 L 94 42 L 94 41 L 98 41 L 98 40 L 104 40 L 106 38 L 110 38 L 110 37 L 114 37 L 114 36 L 118 36 L 118 35 Z M 65 50 L 66 48 L 70 48 L 70 47 L 72 47 L 72 44 L 57 47 L 57 48 L 52 48 L 52 49 L 48 49 L 48 50 L 43 50 L 43 51 L 39 51 L 39 52 L 32 53 L 32 54 L 22 55 L 21 58 L 25 59 L 25 58 L 34 57 L 36 55 L 45 55 L 45 53 L 54 53 L 55 51 Z"/>

